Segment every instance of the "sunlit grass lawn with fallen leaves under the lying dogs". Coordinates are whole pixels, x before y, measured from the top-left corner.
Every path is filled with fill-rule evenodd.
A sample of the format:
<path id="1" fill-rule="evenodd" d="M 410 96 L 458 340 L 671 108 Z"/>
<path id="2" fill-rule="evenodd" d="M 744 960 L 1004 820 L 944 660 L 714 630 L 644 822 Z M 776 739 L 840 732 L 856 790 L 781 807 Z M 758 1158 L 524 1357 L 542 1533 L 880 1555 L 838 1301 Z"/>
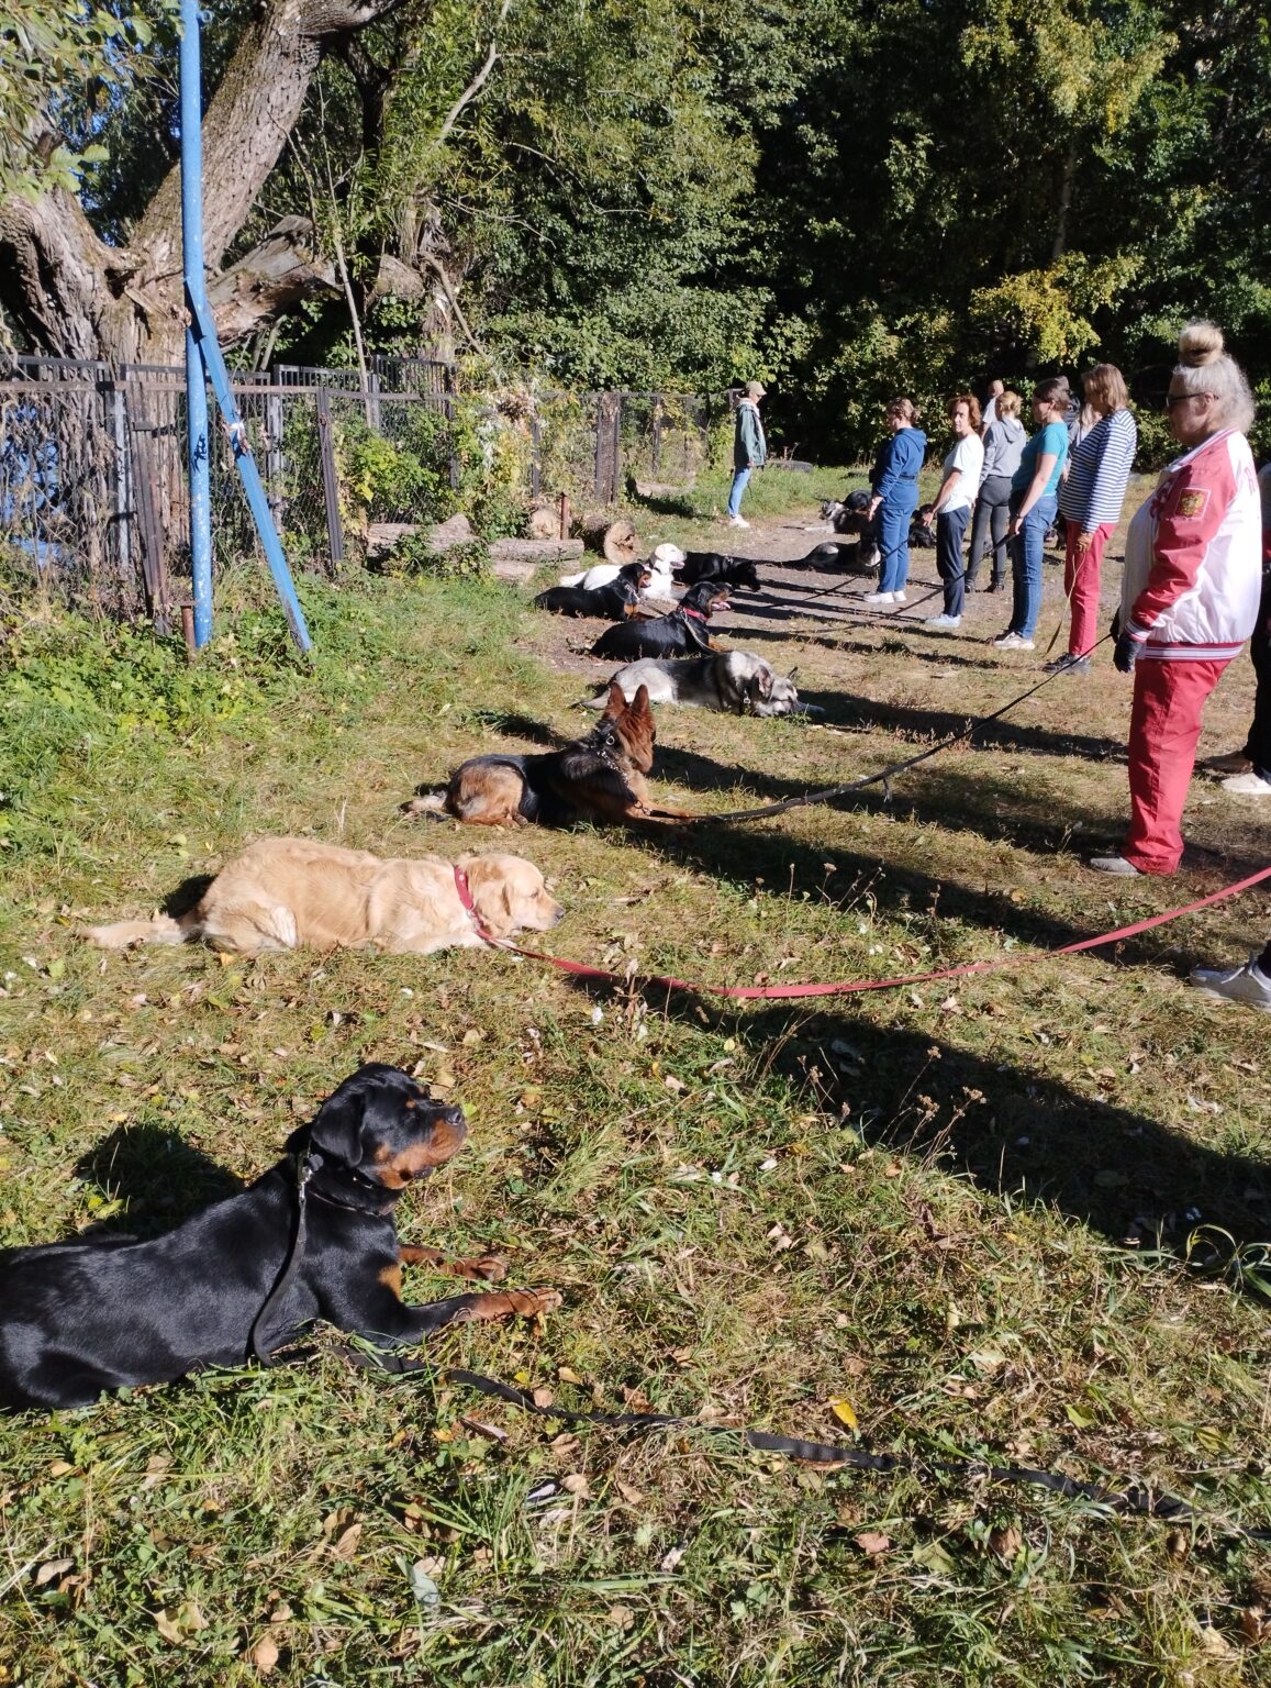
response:
<path id="1" fill-rule="evenodd" d="M 809 550 L 812 503 L 847 481 L 756 478 L 741 549 Z M 717 545 L 717 503 L 646 505 L 641 532 Z M 917 599 L 930 554 L 913 574 Z M 830 577 L 771 581 L 721 636 L 797 662 L 824 714 L 663 711 L 653 785 L 675 805 L 869 773 L 1043 660 L 984 643 L 1001 599 L 942 638 L 812 603 Z M 272 1165 L 361 1060 L 395 1062 L 471 1133 L 403 1202 L 403 1237 L 500 1252 L 510 1285 L 565 1296 L 544 1328 L 452 1332 L 435 1359 L 581 1408 L 1134 1477 L 1212 1523 L 545 1426 L 354 1371 L 319 1332 L 279 1369 L 5 1421 L 0 1685 L 1266 1683 L 1271 1548 L 1230 1526 L 1271 1524 L 1269 1023 L 1182 981 L 1261 945 L 1269 900 L 1045 954 L 1263 866 L 1266 812 L 1198 775 L 1176 879 L 1085 869 L 1126 812 L 1129 689 L 1104 650 L 890 802 L 513 846 L 567 905 L 550 947 L 619 972 L 1035 954 L 1018 971 L 729 1006 L 495 952 L 83 945 L 78 925 L 147 913 L 263 832 L 503 847 L 397 805 L 473 751 L 576 736 L 571 706 L 609 672 L 579 653 L 594 630 L 505 584 L 304 598 L 311 672 L 246 574 L 192 670 L 143 635 L 12 613 L 0 1244 L 165 1229 Z M 1202 755 L 1242 743 L 1251 697 L 1241 658 Z M 446 1293 L 408 1271 L 410 1300 Z"/>

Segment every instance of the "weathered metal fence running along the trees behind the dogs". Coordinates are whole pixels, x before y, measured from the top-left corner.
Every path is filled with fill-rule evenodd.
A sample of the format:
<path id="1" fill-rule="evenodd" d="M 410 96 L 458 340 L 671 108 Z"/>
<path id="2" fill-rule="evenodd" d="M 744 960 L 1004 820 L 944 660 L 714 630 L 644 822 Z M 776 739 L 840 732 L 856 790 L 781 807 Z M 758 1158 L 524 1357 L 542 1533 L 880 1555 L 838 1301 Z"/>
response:
<path id="1" fill-rule="evenodd" d="M 733 403 L 731 393 L 464 393 L 452 365 L 403 358 L 376 358 L 365 383 L 358 370 L 280 365 L 231 387 L 292 565 L 326 574 L 365 559 L 371 523 L 481 506 L 493 486 L 506 520 L 560 493 L 584 508 L 618 503 L 631 479 L 689 484 Z M 255 554 L 257 537 L 213 415 L 213 540 L 228 560 Z M 387 457 L 370 449 L 376 441 Z M 368 461 L 414 473 L 376 479 Z M 71 601 L 172 626 L 189 598 L 184 370 L 0 365 L 0 560 Z"/>

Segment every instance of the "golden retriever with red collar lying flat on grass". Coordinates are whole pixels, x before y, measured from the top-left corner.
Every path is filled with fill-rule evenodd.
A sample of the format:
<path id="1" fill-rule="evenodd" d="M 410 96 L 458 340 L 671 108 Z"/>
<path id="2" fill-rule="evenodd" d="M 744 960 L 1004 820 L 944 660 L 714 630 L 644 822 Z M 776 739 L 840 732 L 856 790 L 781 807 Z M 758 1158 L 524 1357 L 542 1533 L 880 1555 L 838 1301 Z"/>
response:
<path id="1" fill-rule="evenodd" d="M 430 955 L 483 942 L 459 895 L 459 874 L 481 927 L 493 937 L 547 932 L 564 908 L 523 856 L 439 856 L 381 861 L 312 839 L 260 839 L 228 863 L 187 915 L 88 927 L 101 949 L 186 944 L 258 955 L 282 949 L 358 949 Z"/>

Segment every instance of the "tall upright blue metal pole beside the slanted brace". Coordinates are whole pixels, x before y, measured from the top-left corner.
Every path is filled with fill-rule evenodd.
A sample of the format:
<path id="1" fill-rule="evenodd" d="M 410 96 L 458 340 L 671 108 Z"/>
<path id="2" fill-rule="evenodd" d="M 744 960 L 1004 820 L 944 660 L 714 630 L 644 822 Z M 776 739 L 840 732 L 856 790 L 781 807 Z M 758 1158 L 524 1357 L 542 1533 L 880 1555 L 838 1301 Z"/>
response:
<path id="1" fill-rule="evenodd" d="M 186 273 L 186 422 L 189 434 L 189 552 L 194 571 L 194 643 L 213 631 L 208 383 L 194 300 L 203 295 L 203 74 L 197 0 L 181 0 L 181 231 Z"/>

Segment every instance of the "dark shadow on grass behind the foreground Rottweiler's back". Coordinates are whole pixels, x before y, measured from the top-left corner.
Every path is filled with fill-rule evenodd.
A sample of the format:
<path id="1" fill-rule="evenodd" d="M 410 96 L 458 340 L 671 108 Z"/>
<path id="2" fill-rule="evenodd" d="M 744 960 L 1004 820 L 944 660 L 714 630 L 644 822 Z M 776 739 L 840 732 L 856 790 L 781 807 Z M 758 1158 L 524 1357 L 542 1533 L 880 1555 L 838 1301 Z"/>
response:
<path id="1" fill-rule="evenodd" d="M 155 1237 L 245 1188 L 176 1131 L 152 1124 L 116 1126 L 78 1161 L 76 1175 L 122 1204 L 115 1217 L 76 1239 L 103 1244 L 125 1236 Z"/>

